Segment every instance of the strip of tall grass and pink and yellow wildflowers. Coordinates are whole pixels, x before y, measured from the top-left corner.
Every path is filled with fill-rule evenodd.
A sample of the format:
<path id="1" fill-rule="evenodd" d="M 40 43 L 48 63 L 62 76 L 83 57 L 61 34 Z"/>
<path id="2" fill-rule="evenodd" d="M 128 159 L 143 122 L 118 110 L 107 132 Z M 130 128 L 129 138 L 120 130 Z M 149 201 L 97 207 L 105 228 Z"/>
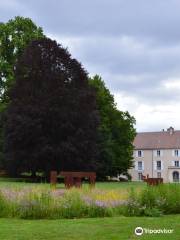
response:
<path id="1" fill-rule="evenodd" d="M 0 189 L 0 217 L 59 219 L 180 213 L 180 185 L 137 189 Z"/>

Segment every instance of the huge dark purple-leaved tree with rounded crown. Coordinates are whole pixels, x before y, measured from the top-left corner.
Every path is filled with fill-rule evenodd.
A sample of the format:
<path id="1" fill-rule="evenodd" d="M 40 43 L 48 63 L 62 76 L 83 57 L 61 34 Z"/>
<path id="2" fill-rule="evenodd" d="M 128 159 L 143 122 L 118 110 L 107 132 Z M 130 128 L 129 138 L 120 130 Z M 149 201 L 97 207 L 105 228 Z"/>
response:
<path id="1" fill-rule="evenodd" d="M 86 71 L 50 39 L 32 41 L 19 58 L 5 116 L 6 168 L 94 170 L 98 111 Z"/>

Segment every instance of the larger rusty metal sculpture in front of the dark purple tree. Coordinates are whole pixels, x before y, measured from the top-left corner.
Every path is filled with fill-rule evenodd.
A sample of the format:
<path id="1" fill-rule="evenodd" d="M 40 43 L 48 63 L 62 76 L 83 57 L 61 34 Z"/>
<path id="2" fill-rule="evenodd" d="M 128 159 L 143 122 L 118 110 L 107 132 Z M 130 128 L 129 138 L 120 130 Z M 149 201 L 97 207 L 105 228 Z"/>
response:
<path id="1" fill-rule="evenodd" d="M 88 178 L 90 187 L 95 186 L 96 173 L 95 172 L 60 172 L 60 175 L 64 177 L 64 184 L 66 188 L 82 186 L 82 179 Z M 51 185 L 57 183 L 57 172 L 51 171 L 50 173 Z"/>

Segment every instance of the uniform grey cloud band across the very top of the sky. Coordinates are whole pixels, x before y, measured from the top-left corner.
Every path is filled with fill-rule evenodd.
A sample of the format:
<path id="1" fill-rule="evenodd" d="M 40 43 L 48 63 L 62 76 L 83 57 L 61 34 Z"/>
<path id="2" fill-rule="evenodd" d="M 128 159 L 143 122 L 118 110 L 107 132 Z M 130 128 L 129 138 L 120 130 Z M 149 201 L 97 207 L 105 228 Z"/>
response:
<path id="1" fill-rule="evenodd" d="M 177 0 L 16 0 L 38 24 L 52 33 L 134 35 L 179 41 L 180 2 Z M 1 8 L 1 4 L 0 4 Z M 12 5 L 13 8 L 13 5 Z M 10 7 L 8 11 L 11 10 Z M 7 11 L 7 13 L 8 13 Z M 23 13 L 23 14 L 24 14 Z M 14 9 L 17 14 L 17 9 Z"/>

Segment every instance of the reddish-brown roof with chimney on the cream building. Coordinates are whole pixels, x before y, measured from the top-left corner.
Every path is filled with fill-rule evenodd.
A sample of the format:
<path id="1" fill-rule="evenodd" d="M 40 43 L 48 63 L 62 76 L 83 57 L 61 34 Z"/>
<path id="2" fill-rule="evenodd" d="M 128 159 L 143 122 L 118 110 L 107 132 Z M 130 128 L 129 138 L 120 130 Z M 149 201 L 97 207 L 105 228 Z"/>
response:
<path id="1" fill-rule="evenodd" d="M 170 127 L 167 131 L 137 133 L 134 146 L 135 149 L 180 149 L 180 131 Z"/>

